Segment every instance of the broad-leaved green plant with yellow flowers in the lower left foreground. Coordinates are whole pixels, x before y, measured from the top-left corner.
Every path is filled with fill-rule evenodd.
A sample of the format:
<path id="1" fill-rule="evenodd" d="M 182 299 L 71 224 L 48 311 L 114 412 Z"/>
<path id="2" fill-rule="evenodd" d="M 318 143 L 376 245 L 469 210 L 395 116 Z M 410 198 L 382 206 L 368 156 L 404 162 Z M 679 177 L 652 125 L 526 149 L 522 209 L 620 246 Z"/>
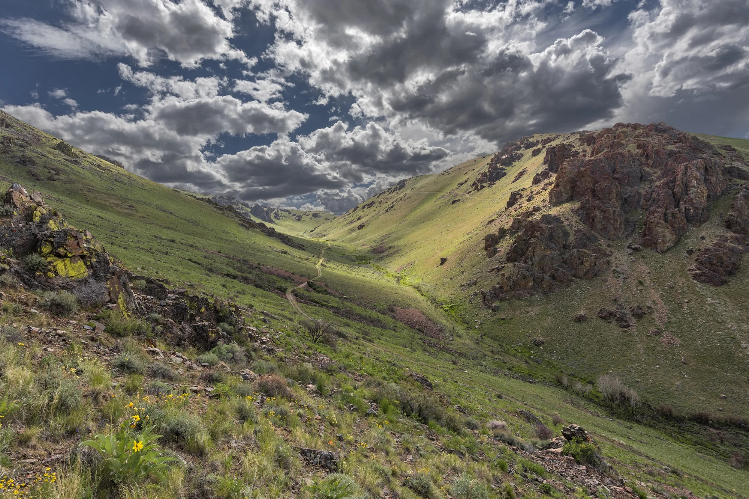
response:
<path id="1" fill-rule="evenodd" d="M 81 445 L 99 451 L 106 461 L 109 477 L 115 483 L 136 483 L 148 475 L 157 477 L 166 485 L 164 471 L 167 463 L 177 461 L 168 456 L 160 456 L 159 447 L 154 442 L 161 435 L 154 435 L 153 426 L 144 426 L 141 432 L 132 430 L 138 426 L 140 417 L 136 414 L 121 423 L 118 432 L 113 435 L 96 435 L 93 440 L 83 441 Z"/>

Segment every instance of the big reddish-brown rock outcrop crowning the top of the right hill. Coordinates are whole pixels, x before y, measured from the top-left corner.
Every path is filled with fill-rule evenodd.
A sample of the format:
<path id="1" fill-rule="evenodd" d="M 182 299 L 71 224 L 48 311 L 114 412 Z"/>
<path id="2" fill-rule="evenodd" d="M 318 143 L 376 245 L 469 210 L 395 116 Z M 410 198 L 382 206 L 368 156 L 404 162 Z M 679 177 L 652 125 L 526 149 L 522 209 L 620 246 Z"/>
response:
<path id="1" fill-rule="evenodd" d="M 578 155 L 565 144 L 547 150 L 547 168 L 558 171 L 549 201 L 580 201 L 580 220 L 608 239 L 634 230 L 628 213 L 641 208 L 643 246 L 666 251 L 727 189 L 725 153 L 665 123 L 618 123 L 591 135 L 580 136 L 589 150 Z"/>

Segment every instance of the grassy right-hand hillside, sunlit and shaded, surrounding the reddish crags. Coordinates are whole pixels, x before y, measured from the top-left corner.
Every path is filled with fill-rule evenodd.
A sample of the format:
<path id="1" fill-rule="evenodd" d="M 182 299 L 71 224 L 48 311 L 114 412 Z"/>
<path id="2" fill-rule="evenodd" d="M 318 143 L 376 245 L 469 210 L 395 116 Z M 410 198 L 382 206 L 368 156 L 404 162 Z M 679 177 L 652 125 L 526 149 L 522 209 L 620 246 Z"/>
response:
<path id="1" fill-rule="evenodd" d="M 549 147 L 571 142 L 577 134 L 552 137 Z M 731 144 L 749 157 L 747 140 L 706 138 Z M 491 312 L 480 306 L 478 293 L 491 288 L 498 277 L 489 272 L 497 266 L 497 258 L 490 259 L 483 251 L 485 234 L 509 227 L 518 212 L 528 209 L 568 218 L 576 203 L 548 204 L 543 183 L 531 183 L 533 175 L 545 168 L 543 155 L 533 157 L 530 150 L 494 186 L 472 192 L 471 183 L 490 158 L 409 179 L 312 235 L 366 248 L 377 266 L 401 285 L 418 287 L 446 315 L 481 335 L 487 348 L 512 346 L 582 379 L 616 373 L 646 399 L 683 411 L 749 413 L 745 396 L 749 390 L 748 266 L 730 284 L 711 287 L 690 278 L 691 257 L 685 252 L 699 248 L 701 237 L 709 240 L 722 227 L 734 192 L 715 200 L 709 221 L 691 227 L 669 251 L 642 251 L 633 257 L 625 248 L 631 239 L 607 242 L 613 260 L 605 275 L 577 281 L 551 295 L 504 301 L 500 310 Z M 527 173 L 515 181 L 522 171 Z M 513 191 L 535 198 L 506 209 Z M 506 251 L 508 245 L 505 239 L 500 247 Z M 442 266 L 440 258 L 447 259 Z M 628 306 L 651 306 L 654 313 L 622 331 L 595 316 L 600 307 L 613 307 L 614 300 Z M 577 313 L 586 313 L 590 319 L 572 322 Z M 679 345 L 670 346 L 662 336 L 649 336 L 651 328 L 667 331 L 677 338 L 670 343 Z M 542 338 L 545 346 L 534 345 L 533 338 Z"/>

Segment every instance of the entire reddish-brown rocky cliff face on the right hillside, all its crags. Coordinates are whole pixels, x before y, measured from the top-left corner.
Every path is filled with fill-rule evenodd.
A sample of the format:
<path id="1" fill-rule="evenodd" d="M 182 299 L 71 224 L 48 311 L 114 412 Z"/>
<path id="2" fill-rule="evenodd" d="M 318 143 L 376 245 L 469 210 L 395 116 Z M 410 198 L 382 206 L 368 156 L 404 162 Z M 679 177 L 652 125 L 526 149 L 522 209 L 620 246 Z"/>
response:
<path id="1" fill-rule="evenodd" d="M 565 221 L 556 215 L 539 217 L 540 206 L 521 211 L 510 227 L 485 236 L 488 257 L 500 253 L 505 237 L 512 238 L 506 264 L 494 267 L 500 280 L 482 290 L 488 306 L 600 275 L 610 265 L 610 254 L 599 237 L 627 237 L 631 248 L 667 251 L 689 227 L 708 220 L 710 201 L 749 179 L 749 164 L 733 147 L 715 147 L 665 123 L 618 123 L 600 132 L 580 132 L 575 141 L 547 145 L 558 138 L 526 140 L 541 146 L 533 156 L 546 149 L 545 169 L 532 184 L 553 179 L 549 203 L 578 204 Z M 521 141 L 508 143 L 492 159 L 490 171 L 521 147 Z M 489 171 L 485 173 L 479 180 L 488 179 Z M 512 192 L 506 209 L 520 199 L 521 192 Z M 725 284 L 738 271 L 749 251 L 749 188 L 736 195 L 725 226 L 726 233 L 695 254 L 690 271 L 697 281 Z"/>

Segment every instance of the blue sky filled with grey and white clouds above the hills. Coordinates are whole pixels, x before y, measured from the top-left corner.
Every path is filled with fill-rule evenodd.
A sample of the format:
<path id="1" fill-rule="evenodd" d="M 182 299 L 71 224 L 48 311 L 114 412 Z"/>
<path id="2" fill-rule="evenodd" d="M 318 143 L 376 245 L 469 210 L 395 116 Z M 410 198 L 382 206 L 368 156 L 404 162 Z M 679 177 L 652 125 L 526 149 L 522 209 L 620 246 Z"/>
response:
<path id="1" fill-rule="evenodd" d="M 0 108 L 167 186 L 343 212 L 539 132 L 749 138 L 749 0 L 3 0 Z"/>

